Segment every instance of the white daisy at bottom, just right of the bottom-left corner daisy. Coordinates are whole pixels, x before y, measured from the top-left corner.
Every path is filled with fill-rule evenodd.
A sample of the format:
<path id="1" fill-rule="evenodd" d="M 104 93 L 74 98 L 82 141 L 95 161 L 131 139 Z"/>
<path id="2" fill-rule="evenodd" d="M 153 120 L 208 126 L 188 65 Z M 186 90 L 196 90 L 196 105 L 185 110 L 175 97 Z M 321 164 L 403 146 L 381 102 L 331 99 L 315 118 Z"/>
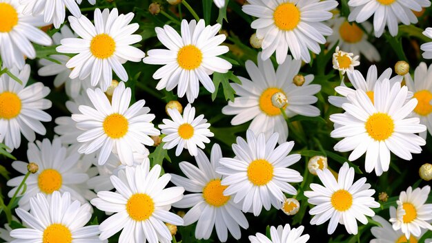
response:
<path id="1" fill-rule="evenodd" d="M 119 242 L 168 243 L 173 237 L 164 222 L 183 225 L 179 215 L 169 212 L 171 204 L 183 198 L 183 187 L 164 189 L 171 179 L 169 173 L 159 178 L 161 167 L 150 162 L 119 171 L 111 176 L 117 192 L 99 191 L 91 203 L 98 209 L 115 213 L 101 223 L 100 239 L 106 240 L 121 229 Z"/>

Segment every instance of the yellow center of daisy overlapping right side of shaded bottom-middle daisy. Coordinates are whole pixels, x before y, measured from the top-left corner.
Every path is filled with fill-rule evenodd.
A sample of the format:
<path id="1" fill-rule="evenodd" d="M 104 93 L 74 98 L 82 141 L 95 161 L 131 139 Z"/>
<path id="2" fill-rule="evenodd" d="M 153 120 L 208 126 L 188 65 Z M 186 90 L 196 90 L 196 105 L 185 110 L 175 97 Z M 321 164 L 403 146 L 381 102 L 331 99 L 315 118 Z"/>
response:
<path id="1" fill-rule="evenodd" d="M 273 178 L 273 165 L 267 160 L 253 160 L 248 167 L 248 178 L 255 186 L 264 186 Z"/>

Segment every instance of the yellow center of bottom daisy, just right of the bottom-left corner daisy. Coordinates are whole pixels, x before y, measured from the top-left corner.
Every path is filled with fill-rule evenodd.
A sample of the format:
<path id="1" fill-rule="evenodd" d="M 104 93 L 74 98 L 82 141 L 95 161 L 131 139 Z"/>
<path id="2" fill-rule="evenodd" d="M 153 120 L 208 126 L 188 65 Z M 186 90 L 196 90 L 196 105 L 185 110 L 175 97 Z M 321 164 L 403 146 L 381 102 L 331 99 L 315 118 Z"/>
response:
<path id="1" fill-rule="evenodd" d="M 155 211 L 155 202 L 147 194 L 133 194 L 126 204 L 129 217 L 135 221 L 148 220 Z"/>

